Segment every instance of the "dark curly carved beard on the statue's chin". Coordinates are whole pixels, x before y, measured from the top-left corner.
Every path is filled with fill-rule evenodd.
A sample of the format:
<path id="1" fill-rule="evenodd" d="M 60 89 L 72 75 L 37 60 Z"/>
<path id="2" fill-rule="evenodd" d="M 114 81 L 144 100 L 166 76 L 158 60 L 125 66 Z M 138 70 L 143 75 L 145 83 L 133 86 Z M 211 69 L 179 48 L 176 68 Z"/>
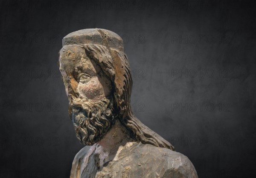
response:
<path id="1" fill-rule="evenodd" d="M 98 102 L 72 99 L 70 119 L 73 120 L 76 137 L 81 144 L 93 145 L 111 129 L 115 122 L 112 101 L 107 98 Z"/>

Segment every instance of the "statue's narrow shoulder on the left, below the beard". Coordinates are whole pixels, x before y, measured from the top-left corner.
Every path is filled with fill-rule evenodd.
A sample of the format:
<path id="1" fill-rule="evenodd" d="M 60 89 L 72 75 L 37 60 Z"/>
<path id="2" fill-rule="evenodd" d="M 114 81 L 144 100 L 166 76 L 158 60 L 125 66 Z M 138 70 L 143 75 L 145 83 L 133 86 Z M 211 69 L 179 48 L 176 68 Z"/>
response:
<path id="1" fill-rule="evenodd" d="M 93 146 L 85 146 L 78 153 L 72 163 L 72 168 L 70 171 L 70 178 L 80 177 L 82 174 L 82 170 L 87 166 L 90 155 L 93 154 L 95 150 L 95 145 Z"/>

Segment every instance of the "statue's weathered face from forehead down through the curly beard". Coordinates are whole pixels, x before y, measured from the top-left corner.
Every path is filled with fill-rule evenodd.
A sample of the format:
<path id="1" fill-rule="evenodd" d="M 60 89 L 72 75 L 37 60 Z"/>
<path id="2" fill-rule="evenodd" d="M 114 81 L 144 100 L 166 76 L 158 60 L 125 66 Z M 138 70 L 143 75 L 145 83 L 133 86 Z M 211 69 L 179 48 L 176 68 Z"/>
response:
<path id="1" fill-rule="evenodd" d="M 111 81 L 78 45 L 63 47 L 59 61 L 76 136 L 93 145 L 114 123 Z"/>

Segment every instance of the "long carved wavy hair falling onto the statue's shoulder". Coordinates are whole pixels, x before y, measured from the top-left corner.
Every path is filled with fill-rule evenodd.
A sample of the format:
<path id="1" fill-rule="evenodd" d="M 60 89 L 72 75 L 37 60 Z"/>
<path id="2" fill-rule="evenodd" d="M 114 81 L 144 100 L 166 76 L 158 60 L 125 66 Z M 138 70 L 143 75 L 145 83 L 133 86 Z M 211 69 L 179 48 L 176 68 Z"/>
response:
<path id="1" fill-rule="evenodd" d="M 130 98 L 132 77 L 128 58 L 123 51 L 111 48 L 109 41 L 104 38 L 104 31 L 97 29 L 102 35 L 102 45 L 84 44 L 85 53 L 102 68 L 102 71 L 111 79 L 113 85 L 114 102 L 118 109 L 120 122 L 130 131 L 136 141 L 151 144 L 170 150 L 175 148 L 163 137 L 145 126 L 131 110 Z"/>

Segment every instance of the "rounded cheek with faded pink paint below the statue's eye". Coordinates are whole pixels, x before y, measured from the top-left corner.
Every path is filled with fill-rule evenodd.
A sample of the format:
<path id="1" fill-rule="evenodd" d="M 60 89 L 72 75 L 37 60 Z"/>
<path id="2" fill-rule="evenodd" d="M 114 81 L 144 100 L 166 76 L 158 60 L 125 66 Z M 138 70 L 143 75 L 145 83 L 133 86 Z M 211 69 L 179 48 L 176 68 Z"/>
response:
<path id="1" fill-rule="evenodd" d="M 77 89 L 79 94 L 86 96 L 87 99 L 94 100 L 105 97 L 103 86 L 97 77 L 90 79 L 86 83 L 79 83 Z"/>

